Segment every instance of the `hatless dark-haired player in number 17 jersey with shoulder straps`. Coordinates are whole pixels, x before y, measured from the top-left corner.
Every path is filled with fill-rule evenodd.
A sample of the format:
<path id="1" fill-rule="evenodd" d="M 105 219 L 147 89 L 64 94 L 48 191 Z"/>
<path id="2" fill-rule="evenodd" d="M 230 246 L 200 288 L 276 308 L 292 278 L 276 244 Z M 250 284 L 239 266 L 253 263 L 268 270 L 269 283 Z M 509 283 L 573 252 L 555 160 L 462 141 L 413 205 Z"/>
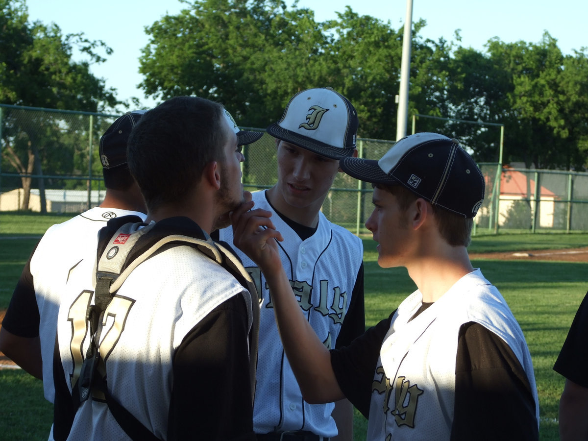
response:
<path id="1" fill-rule="evenodd" d="M 85 259 L 71 272 L 51 439 L 255 439 L 257 295 L 238 259 L 209 236 L 245 197 L 241 134 L 257 136 L 240 132 L 220 104 L 188 96 L 133 129 L 129 168 L 148 217 L 109 222 L 98 267 Z M 117 276 L 101 265 L 119 253 Z"/>

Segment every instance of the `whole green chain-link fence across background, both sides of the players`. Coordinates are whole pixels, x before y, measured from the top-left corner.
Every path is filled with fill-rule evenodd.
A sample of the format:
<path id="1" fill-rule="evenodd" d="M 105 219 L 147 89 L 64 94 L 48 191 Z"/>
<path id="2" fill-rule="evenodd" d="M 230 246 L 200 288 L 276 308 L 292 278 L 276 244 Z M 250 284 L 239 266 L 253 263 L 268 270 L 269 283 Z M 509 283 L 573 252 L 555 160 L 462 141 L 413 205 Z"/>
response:
<path id="1" fill-rule="evenodd" d="M 0 105 L 0 211 L 79 213 L 104 197 L 98 145 L 119 115 Z M 252 128 L 248 128 L 252 129 Z M 252 129 L 263 131 L 263 129 Z M 393 141 L 358 139 L 361 158 L 379 159 Z M 250 191 L 276 183 L 274 139 L 264 134 L 243 149 Z M 485 201 L 475 234 L 498 230 L 588 230 L 588 173 L 502 168 L 480 163 Z M 372 212 L 372 187 L 339 173 L 322 211 L 355 233 Z"/>

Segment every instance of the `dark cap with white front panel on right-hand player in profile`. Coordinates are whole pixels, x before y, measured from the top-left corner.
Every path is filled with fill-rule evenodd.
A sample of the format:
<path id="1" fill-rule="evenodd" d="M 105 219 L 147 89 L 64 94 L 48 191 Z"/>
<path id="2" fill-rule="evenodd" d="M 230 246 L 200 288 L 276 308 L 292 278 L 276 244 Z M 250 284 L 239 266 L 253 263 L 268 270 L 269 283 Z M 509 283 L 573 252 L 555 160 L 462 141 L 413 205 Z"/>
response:
<path id="1" fill-rule="evenodd" d="M 396 142 L 379 161 L 344 158 L 341 169 L 375 184 L 400 184 L 421 198 L 473 218 L 484 201 L 482 172 L 456 139 L 415 133 Z"/>

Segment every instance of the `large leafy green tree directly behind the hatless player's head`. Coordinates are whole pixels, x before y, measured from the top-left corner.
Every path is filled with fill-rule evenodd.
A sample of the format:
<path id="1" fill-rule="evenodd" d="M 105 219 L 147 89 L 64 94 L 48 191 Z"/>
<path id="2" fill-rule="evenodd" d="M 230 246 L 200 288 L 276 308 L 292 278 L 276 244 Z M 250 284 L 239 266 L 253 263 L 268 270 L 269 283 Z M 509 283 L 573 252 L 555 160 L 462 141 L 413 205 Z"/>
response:
<path id="1" fill-rule="evenodd" d="M 323 83 L 326 38 L 308 9 L 281 0 L 198 0 L 146 29 L 147 95 L 222 102 L 241 125 L 268 125 L 285 97 Z M 287 99 L 287 98 L 286 98 Z"/>

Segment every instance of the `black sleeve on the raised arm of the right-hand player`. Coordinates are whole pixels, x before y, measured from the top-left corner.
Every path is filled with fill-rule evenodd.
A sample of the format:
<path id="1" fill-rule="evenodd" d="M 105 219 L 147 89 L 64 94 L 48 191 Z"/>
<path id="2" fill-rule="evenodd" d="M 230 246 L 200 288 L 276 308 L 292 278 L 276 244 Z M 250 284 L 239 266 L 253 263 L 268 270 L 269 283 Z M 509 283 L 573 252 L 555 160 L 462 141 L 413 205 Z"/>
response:
<path id="1" fill-rule="evenodd" d="M 366 418 L 369 416 L 377 359 L 393 314 L 366 330 L 349 346 L 330 351 L 333 372 L 343 395 Z"/>

